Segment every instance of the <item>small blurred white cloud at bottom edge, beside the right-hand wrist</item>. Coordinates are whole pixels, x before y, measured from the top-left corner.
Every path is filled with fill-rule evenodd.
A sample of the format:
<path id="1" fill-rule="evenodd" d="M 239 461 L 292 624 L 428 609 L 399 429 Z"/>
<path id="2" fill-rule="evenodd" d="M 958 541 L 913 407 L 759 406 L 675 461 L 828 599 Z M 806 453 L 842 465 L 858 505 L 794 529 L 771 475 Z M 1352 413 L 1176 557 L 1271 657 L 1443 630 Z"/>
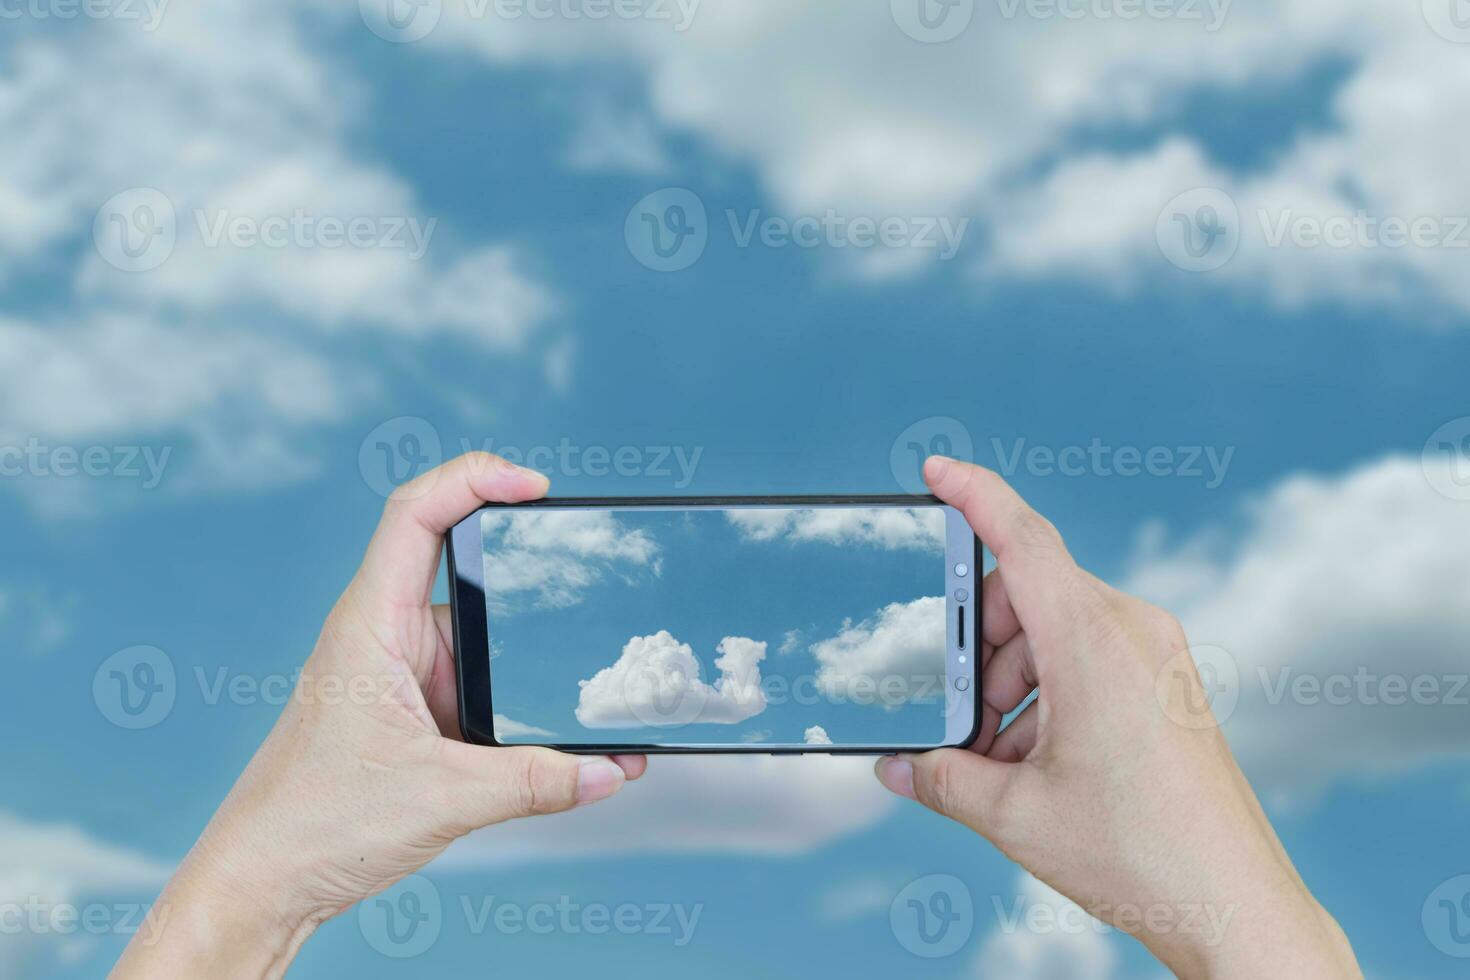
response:
<path id="1" fill-rule="evenodd" d="M 1000 929 L 980 946 L 976 976 L 1011 980 L 1108 980 L 1117 976 L 1119 955 L 1113 940 L 1076 902 L 1051 886 L 1022 871 L 1016 895 L 995 901 L 1000 902 L 994 908 Z M 978 907 L 976 915 L 982 911 Z"/>

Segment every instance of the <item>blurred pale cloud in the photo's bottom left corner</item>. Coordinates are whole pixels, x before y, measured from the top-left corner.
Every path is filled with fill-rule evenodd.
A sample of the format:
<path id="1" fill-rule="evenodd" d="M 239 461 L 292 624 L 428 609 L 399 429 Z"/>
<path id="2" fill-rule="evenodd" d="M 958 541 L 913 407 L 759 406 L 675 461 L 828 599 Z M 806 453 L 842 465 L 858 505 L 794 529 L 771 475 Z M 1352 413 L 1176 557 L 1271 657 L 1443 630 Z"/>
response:
<path id="1" fill-rule="evenodd" d="M 35 905 L 50 911 L 107 899 L 112 908 L 119 898 L 151 899 L 171 873 L 171 865 L 97 840 L 79 827 L 37 823 L 0 811 L 3 905 L 21 909 Z M 129 920 L 140 929 L 153 927 L 144 924 L 141 915 L 129 915 Z M 116 921 L 129 924 L 122 917 Z M 160 918 L 159 924 L 166 921 Z M 0 974 L 19 977 L 40 971 L 50 958 L 66 958 L 75 940 L 75 936 L 57 933 L 6 936 L 0 943 Z"/>

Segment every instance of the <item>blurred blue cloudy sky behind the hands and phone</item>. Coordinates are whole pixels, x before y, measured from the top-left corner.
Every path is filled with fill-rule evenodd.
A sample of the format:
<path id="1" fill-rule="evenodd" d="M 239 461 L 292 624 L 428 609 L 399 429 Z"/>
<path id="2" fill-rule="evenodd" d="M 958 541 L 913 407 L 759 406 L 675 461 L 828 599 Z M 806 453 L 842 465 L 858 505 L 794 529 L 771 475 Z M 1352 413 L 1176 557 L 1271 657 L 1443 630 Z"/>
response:
<path id="1" fill-rule="evenodd" d="M 939 438 L 1227 652 L 1226 736 L 1369 974 L 1460 974 L 1426 908 L 1470 873 L 1467 38 L 1435 3 L 1277 0 L 1217 31 L 972 6 L 944 43 L 882 3 L 711 3 L 685 31 L 445 3 L 415 43 L 326 4 L 6 21 L 0 445 L 35 451 L 0 460 L 0 901 L 156 893 L 362 555 L 379 441 L 567 447 L 553 492 L 614 495 L 894 492 Z M 659 272 L 626 229 L 669 188 L 703 251 Z M 112 219 L 165 209 L 176 238 L 134 239 L 138 269 Z M 1358 212 L 1427 238 L 1386 245 Z M 287 238 L 210 244 L 220 217 Z M 437 219 L 419 260 L 409 217 Z M 854 219 L 903 241 L 854 244 Z M 922 244 L 941 219 L 969 219 L 950 259 Z M 1351 241 L 1314 244 L 1324 225 Z M 104 476 L 56 475 L 98 447 Z M 168 451 L 156 486 L 134 450 Z M 175 701 L 129 730 L 93 682 L 138 645 Z M 1439 695 L 1392 704 L 1386 677 Z M 1157 976 L 1116 936 L 1007 933 L 997 902 L 1054 896 L 851 761 L 654 760 L 428 868 L 417 958 L 348 914 L 298 974 Z M 889 908 L 936 873 L 975 915 L 928 959 Z M 491 896 L 703 912 L 682 946 L 476 934 L 460 899 Z M 7 936 L 0 971 L 96 976 L 123 940 Z"/>

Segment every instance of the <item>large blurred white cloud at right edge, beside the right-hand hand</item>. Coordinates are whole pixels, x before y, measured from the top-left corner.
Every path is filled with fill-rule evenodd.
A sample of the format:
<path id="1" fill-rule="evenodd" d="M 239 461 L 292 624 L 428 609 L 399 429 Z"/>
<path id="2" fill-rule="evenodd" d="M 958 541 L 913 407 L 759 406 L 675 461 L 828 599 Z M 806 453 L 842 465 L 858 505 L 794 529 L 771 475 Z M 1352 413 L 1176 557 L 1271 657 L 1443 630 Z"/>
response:
<path id="1" fill-rule="evenodd" d="M 1230 654 L 1239 701 L 1223 730 L 1269 798 L 1470 757 L 1464 507 L 1420 460 L 1388 457 L 1286 479 L 1239 527 L 1148 535 L 1127 588 L 1173 610 L 1191 644 Z M 1433 704 L 1416 702 L 1416 680 Z"/>

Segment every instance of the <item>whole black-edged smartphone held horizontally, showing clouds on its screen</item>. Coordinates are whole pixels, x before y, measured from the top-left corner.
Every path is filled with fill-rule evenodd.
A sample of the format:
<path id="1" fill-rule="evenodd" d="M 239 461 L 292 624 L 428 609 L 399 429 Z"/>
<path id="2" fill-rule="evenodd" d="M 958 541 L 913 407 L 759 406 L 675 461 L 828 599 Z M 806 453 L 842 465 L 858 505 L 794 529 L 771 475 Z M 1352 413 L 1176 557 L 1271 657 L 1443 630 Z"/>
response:
<path id="1" fill-rule="evenodd" d="M 979 730 L 982 547 L 938 498 L 548 498 L 447 547 L 470 742 L 882 754 Z"/>

